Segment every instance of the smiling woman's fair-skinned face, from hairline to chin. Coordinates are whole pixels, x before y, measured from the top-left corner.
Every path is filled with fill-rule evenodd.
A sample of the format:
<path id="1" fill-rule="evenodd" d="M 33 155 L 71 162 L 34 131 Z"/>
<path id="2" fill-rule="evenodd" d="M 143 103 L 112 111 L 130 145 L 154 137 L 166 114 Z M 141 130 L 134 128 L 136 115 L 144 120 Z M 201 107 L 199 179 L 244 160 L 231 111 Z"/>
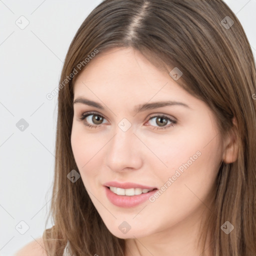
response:
<path id="1" fill-rule="evenodd" d="M 212 111 L 133 48 L 90 61 L 74 84 L 71 145 L 105 225 L 120 238 L 192 226 L 223 157 Z"/>

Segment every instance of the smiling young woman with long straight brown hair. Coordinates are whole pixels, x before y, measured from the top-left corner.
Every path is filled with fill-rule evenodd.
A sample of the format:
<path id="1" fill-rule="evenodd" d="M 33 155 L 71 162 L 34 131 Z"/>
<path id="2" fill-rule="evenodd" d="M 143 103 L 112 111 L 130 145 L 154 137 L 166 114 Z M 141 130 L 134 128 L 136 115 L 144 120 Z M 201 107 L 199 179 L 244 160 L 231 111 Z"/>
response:
<path id="1" fill-rule="evenodd" d="M 54 226 L 26 250 L 255 255 L 255 81 L 221 0 L 100 3 L 59 83 Z"/>

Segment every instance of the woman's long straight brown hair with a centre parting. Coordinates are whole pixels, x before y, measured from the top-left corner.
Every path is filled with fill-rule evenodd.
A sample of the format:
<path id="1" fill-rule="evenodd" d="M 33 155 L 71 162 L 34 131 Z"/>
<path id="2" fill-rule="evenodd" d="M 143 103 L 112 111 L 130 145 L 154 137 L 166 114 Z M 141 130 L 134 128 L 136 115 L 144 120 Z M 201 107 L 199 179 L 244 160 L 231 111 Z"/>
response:
<path id="1" fill-rule="evenodd" d="M 255 63 L 240 22 L 222 0 L 104 0 L 83 21 L 59 83 L 50 211 L 54 225 L 43 234 L 46 250 L 60 256 L 68 241 L 72 255 L 124 255 L 125 240 L 106 228 L 81 178 L 70 182 L 67 174 L 79 172 L 70 143 L 74 80 L 95 54 L 129 46 L 168 72 L 178 67 L 183 73 L 178 84 L 212 109 L 220 134 L 235 130 L 238 157 L 220 164 L 201 237 L 205 247 L 210 235 L 211 255 L 255 256 Z M 229 234 L 220 228 L 226 220 L 234 226 Z"/>

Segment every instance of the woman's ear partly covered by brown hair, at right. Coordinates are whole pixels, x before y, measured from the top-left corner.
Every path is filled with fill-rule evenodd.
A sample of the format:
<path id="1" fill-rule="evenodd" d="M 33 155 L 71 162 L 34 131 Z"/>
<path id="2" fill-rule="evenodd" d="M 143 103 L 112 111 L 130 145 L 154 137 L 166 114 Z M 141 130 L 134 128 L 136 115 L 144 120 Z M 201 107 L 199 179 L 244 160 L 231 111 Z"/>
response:
<path id="1" fill-rule="evenodd" d="M 225 163 L 234 162 L 238 157 L 238 138 L 235 132 L 235 128 L 237 128 L 237 120 L 235 117 L 233 117 L 232 122 L 233 127 L 228 133 L 224 144 L 223 161 Z"/>

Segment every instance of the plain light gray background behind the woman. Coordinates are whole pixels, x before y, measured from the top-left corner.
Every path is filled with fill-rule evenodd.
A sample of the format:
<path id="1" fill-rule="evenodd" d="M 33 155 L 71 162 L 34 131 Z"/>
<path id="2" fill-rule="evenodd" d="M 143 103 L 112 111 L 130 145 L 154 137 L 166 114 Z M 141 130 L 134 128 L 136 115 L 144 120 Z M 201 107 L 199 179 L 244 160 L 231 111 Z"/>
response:
<path id="1" fill-rule="evenodd" d="M 225 2 L 237 14 L 256 56 L 256 0 Z M 57 110 L 57 96 L 48 100 L 46 94 L 58 86 L 68 46 L 98 3 L 0 0 L 1 256 L 12 255 L 44 230 L 53 181 Z M 20 29 L 26 19 L 29 24 Z M 28 123 L 23 131 L 16 127 L 21 118 Z M 21 220 L 29 226 L 27 231 Z"/>

